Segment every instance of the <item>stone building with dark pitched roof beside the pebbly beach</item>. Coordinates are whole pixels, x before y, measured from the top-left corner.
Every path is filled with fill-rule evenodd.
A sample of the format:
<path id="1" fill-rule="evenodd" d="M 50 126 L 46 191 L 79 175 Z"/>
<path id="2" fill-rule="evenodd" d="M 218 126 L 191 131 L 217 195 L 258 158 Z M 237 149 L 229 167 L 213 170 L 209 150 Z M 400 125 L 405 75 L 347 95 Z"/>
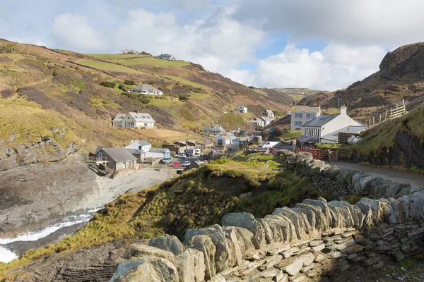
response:
<path id="1" fill-rule="evenodd" d="M 95 157 L 106 159 L 107 167 L 115 171 L 136 168 L 136 157 L 125 148 L 99 147 Z"/>

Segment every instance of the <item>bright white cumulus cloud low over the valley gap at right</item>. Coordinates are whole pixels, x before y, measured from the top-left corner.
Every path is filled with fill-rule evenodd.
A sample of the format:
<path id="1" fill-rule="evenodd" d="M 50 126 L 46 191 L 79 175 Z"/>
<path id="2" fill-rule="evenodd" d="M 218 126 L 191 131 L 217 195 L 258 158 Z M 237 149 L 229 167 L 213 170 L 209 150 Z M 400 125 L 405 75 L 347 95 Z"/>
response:
<path id="1" fill-rule="evenodd" d="M 329 44 L 311 53 L 288 45 L 280 54 L 259 61 L 253 73 L 254 85 L 337 90 L 378 71 L 385 54 L 376 46 Z"/>

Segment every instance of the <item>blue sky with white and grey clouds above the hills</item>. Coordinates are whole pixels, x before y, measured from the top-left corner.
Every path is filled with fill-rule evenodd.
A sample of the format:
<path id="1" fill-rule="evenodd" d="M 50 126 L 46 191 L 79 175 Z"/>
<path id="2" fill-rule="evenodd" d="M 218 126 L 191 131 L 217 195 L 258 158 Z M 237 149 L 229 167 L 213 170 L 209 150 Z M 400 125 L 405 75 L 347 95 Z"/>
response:
<path id="1" fill-rule="evenodd" d="M 255 87 L 338 90 L 424 40 L 422 0 L 0 0 L 0 38 L 169 53 Z"/>

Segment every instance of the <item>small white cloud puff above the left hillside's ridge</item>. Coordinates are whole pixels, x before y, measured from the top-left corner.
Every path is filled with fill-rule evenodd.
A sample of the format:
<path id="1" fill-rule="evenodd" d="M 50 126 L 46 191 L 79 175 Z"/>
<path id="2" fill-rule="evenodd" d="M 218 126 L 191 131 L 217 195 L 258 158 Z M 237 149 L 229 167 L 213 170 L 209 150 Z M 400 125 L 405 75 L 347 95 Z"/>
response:
<path id="1" fill-rule="evenodd" d="M 71 13 L 60 14 L 54 18 L 52 37 L 57 45 L 66 46 L 73 51 L 98 51 L 105 49 L 105 37 L 92 27 L 87 18 Z"/>

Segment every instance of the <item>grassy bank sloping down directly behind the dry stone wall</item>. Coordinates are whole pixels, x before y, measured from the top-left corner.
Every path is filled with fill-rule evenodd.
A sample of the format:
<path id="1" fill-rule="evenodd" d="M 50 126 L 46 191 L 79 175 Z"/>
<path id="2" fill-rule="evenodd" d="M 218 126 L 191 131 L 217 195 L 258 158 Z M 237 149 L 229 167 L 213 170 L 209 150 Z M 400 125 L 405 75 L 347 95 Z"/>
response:
<path id="1" fill-rule="evenodd" d="M 283 163 L 283 157 L 259 153 L 240 154 L 236 159 L 221 159 L 193 169 L 151 188 L 150 192 L 121 195 L 74 235 L 25 252 L 10 264 L 0 263 L 0 274 L 47 255 L 109 241 L 152 238 L 163 233 L 182 238 L 187 228 L 220 223 L 229 212 L 265 216 L 276 207 L 322 195 L 310 179 L 300 178 L 294 171 L 275 169 L 280 166 L 278 162 Z M 240 197 L 246 192 L 252 192 L 252 197 Z"/>

